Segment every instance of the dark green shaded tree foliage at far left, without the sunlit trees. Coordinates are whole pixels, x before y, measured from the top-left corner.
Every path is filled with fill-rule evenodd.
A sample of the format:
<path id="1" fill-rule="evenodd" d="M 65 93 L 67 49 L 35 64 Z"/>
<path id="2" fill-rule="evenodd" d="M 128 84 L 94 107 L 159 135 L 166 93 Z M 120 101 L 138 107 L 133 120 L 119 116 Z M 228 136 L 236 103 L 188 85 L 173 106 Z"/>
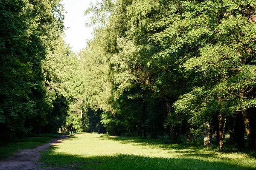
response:
<path id="1" fill-rule="evenodd" d="M 63 31 L 59 0 L 0 2 L 0 127 L 3 136 L 27 133 L 47 123 L 42 59 Z"/>

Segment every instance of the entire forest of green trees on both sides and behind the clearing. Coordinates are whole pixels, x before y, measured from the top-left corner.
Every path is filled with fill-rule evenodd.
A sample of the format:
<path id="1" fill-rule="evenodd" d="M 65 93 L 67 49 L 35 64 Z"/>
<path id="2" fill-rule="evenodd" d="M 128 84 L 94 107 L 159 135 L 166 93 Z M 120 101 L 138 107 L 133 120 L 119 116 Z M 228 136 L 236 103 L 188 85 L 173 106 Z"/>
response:
<path id="1" fill-rule="evenodd" d="M 255 0 L 97 0 L 64 41 L 61 0 L 0 0 L 0 137 L 204 136 L 256 150 Z"/>

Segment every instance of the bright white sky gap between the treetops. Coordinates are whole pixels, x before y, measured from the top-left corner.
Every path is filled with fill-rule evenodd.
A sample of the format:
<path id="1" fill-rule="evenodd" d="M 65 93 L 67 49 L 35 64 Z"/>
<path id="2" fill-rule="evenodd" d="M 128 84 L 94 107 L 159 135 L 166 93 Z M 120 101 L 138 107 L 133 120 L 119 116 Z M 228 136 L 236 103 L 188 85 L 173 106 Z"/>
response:
<path id="1" fill-rule="evenodd" d="M 66 28 L 66 42 L 70 43 L 72 50 L 78 52 L 85 47 L 86 40 L 91 39 L 92 28 L 85 27 L 85 22 L 89 20 L 84 17 L 84 11 L 96 0 L 63 0 L 65 14 L 64 26 Z M 68 28 L 68 29 L 67 29 Z"/>

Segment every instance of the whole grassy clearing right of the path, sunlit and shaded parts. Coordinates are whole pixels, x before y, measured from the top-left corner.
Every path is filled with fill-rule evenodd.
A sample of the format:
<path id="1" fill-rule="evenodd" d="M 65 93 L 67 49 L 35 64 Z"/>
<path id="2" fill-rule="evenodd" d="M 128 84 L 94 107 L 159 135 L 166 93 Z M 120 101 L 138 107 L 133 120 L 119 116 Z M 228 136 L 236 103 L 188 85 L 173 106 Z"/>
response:
<path id="1" fill-rule="evenodd" d="M 108 137 L 83 133 L 42 153 L 41 161 L 86 170 L 255 170 L 248 153 L 219 153 L 189 144 L 163 144 L 156 139 Z"/>

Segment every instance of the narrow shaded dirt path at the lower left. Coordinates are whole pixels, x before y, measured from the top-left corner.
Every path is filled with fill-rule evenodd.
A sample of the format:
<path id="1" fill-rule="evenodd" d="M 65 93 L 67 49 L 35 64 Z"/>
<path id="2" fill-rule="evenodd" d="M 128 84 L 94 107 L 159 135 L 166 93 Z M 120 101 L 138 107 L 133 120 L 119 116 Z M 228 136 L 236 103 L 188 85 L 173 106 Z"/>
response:
<path id="1" fill-rule="evenodd" d="M 59 139 L 53 139 L 49 144 L 43 144 L 35 149 L 22 149 L 19 153 L 0 162 L 0 170 L 64 170 L 63 168 L 38 168 L 44 166 L 44 163 L 38 162 L 40 152 L 46 151 L 51 145 L 63 142 L 68 136 L 60 136 Z"/>

